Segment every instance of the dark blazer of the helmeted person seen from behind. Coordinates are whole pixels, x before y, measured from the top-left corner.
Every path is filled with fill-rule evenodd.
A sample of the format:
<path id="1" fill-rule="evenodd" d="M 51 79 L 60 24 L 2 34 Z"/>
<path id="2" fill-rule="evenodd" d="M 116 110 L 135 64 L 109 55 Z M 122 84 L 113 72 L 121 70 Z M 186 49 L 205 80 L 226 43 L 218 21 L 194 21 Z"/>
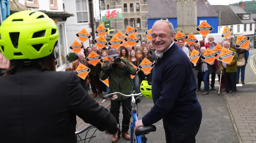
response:
<path id="1" fill-rule="evenodd" d="M 118 131 L 75 72 L 31 68 L 1 77 L 0 115 L 0 143 L 76 143 L 76 115 L 100 131 Z"/>

